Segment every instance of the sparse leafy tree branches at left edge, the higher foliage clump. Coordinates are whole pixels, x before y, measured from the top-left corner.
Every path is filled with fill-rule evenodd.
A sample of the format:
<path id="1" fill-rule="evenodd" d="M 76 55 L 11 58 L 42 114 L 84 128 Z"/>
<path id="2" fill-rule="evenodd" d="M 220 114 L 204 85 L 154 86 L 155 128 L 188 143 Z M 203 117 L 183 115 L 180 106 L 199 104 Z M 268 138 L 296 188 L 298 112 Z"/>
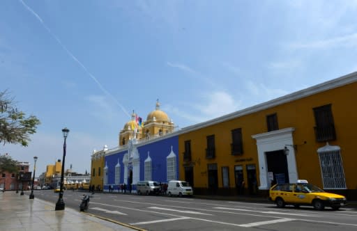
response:
<path id="1" fill-rule="evenodd" d="M 29 135 L 36 133 L 38 125 L 40 120 L 36 116 L 26 117 L 8 97 L 6 90 L 0 92 L 0 143 L 20 143 L 26 147 L 31 141 Z"/>

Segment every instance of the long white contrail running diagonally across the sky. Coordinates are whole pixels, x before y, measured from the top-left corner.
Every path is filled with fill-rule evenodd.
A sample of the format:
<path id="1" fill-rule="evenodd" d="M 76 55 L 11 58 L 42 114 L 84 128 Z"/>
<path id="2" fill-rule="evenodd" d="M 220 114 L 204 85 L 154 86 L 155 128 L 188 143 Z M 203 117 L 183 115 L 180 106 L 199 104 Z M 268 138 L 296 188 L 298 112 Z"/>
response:
<path id="1" fill-rule="evenodd" d="M 103 86 L 102 84 L 100 84 L 100 82 L 96 79 L 96 77 L 94 77 L 93 74 L 91 74 L 91 72 L 89 72 L 89 70 L 72 54 L 72 52 L 70 52 L 67 47 L 65 45 L 63 45 L 63 43 L 61 42 L 61 40 L 59 40 L 59 38 L 57 38 L 56 35 L 54 35 L 54 33 L 52 33 L 52 31 L 50 30 L 50 28 L 48 28 L 45 24 L 45 22 L 43 22 L 43 19 L 41 19 L 40 16 L 38 16 L 38 14 L 36 14 L 35 11 L 33 11 L 29 6 L 26 5 L 26 3 L 24 3 L 24 1 L 19 0 L 22 5 L 24 5 L 24 7 L 29 10 L 29 12 L 34 15 L 38 21 L 40 21 L 40 23 L 43 25 L 43 27 L 45 27 L 45 29 L 48 31 L 48 33 L 50 33 L 50 35 L 52 35 L 52 37 L 59 43 L 59 45 L 61 45 L 61 47 L 67 52 L 67 54 L 70 56 L 70 58 L 73 58 L 73 60 L 78 63 L 78 65 L 80 67 L 83 68 L 83 70 L 89 74 L 89 77 L 91 77 L 93 79 L 93 81 L 95 81 L 97 83 L 97 85 L 99 86 L 100 90 L 102 90 L 106 95 L 108 95 L 109 97 L 112 97 L 112 99 L 114 99 L 114 101 L 116 102 L 116 104 L 118 104 L 118 106 L 120 106 L 121 111 L 123 111 L 124 113 L 126 113 L 126 115 L 130 118 L 130 115 L 128 113 L 128 111 L 126 111 L 126 109 L 123 107 L 123 105 L 121 105 L 121 103 L 119 103 L 118 100 L 116 100 L 116 98 L 114 98 L 114 96 L 112 94 L 110 94 Z"/>

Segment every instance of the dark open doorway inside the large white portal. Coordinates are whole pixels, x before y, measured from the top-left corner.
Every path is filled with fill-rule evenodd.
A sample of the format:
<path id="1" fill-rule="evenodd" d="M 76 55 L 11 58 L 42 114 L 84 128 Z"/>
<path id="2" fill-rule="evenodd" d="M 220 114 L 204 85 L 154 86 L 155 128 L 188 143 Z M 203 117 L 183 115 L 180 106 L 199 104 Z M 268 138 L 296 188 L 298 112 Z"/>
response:
<path id="1" fill-rule="evenodd" d="M 268 165 L 268 173 L 273 173 L 271 184 L 289 183 L 287 155 L 284 153 L 284 150 L 266 152 L 266 164 Z"/>

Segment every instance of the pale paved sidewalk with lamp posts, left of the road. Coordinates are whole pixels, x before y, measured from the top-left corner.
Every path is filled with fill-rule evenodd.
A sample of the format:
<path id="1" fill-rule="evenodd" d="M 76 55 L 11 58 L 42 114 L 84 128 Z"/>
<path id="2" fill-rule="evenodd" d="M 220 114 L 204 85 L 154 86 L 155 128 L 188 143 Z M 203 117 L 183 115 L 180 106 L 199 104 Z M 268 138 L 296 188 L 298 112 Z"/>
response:
<path id="1" fill-rule="evenodd" d="M 75 209 L 55 211 L 55 205 L 29 199 L 15 191 L 0 192 L 0 230 L 139 230 L 130 225 L 105 221 Z"/>

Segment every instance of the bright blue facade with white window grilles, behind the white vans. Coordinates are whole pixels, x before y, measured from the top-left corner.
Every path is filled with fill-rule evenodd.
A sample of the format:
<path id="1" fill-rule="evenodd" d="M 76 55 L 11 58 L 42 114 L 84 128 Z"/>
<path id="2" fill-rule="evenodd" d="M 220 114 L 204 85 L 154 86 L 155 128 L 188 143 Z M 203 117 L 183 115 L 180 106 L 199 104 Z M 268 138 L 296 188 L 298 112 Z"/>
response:
<path id="1" fill-rule="evenodd" d="M 179 136 L 168 135 L 155 141 L 132 139 L 128 145 L 108 150 L 104 157 L 103 191 L 120 189 L 135 193 L 136 184 L 142 180 L 167 183 L 179 179 Z"/>

